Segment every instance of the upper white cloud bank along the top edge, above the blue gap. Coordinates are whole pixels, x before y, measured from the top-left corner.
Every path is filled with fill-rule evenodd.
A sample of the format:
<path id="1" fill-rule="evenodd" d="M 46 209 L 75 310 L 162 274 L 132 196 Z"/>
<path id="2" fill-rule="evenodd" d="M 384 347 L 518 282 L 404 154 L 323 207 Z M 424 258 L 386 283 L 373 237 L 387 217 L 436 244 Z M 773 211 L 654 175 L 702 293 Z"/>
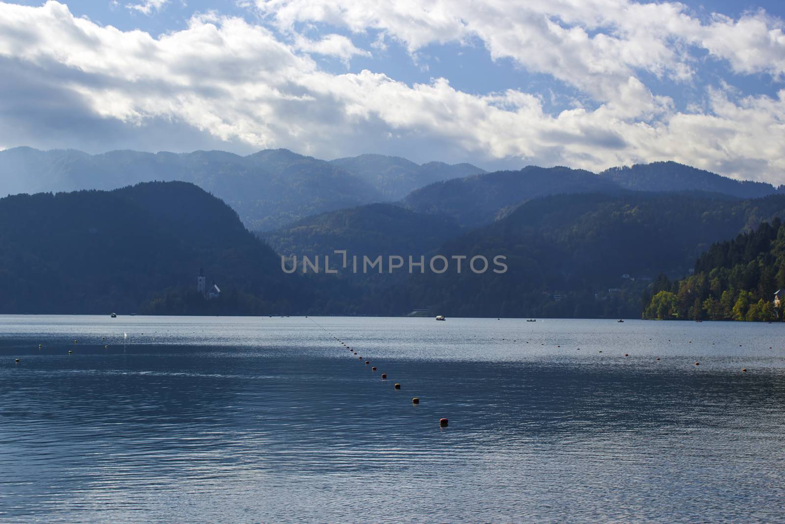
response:
<path id="1" fill-rule="evenodd" d="M 433 43 L 479 38 L 494 59 L 512 58 L 599 101 L 620 96 L 636 71 L 690 79 L 691 46 L 728 60 L 735 71 L 785 73 L 782 22 L 762 11 L 739 20 L 715 15 L 702 24 L 680 3 L 631 0 L 256 0 L 255 5 L 281 30 L 298 23 L 357 33 L 372 28 L 412 54 Z"/>

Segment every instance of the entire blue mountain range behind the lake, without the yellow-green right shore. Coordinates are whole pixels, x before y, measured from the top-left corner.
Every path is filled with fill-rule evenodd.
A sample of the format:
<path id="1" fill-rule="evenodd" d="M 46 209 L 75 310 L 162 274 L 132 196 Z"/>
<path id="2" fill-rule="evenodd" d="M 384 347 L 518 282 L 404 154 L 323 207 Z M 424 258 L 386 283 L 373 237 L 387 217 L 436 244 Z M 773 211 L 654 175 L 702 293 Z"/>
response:
<path id="1" fill-rule="evenodd" d="M 0 199 L 5 313 L 634 317 L 657 275 L 684 277 L 712 243 L 785 216 L 782 186 L 671 162 L 486 173 L 283 149 L 15 148 L 0 152 L 0 174 L 2 192 L 38 192 Z M 509 270 L 287 275 L 276 254 L 337 249 L 504 255 Z M 199 266 L 221 284 L 220 300 L 195 292 Z"/>

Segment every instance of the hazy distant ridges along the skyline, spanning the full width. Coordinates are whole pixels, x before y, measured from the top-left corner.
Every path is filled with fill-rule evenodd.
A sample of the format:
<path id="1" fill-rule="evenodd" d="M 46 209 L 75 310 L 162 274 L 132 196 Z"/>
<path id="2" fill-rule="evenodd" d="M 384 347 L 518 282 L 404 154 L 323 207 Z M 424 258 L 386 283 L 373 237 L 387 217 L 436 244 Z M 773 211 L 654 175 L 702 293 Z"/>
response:
<path id="1" fill-rule="evenodd" d="M 115 189 L 142 181 L 188 181 L 225 200 L 250 229 L 268 232 L 298 220 L 370 203 L 397 202 L 414 213 L 439 214 L 462 227 L 494 222 L 542 196 L 701 190 L 738 198 L 785 192 L 674 162 L 616 167 L 594 174 L 569 167 L 524 167 L 487 173 L 466 163 L 419 165 L 366 154 L 334 160 L 266 149 L 248 156 L 13 148 L 0 152 L 0 195 Z"/>

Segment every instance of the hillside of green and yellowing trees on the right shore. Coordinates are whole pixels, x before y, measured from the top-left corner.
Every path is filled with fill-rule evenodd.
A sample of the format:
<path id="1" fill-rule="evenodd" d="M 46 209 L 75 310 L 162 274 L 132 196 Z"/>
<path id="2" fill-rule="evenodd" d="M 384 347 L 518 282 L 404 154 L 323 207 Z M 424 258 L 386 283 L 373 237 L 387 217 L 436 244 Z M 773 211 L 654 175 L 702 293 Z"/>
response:
<path id="1" fill-rule="evenodd" d="M 785 224 L 775 218 L 712 245 L 691 276 L 658 282 L 644 318 L 781 320 L 783 307 L 773 304 L 780 289 L 785 289 Z M 785 296 L 780 299 L 785 306 Z"/>

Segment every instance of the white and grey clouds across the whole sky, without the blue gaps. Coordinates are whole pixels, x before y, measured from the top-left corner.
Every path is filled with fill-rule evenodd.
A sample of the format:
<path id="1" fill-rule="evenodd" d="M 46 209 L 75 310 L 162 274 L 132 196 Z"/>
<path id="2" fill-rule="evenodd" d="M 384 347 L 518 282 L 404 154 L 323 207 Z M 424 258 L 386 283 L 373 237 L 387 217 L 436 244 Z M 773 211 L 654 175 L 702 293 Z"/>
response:
<path id="1" fill-rule="evenodd" d="M 576 2 L 571 13 L 563 1 L 554 4 L 564 10 L 558 21 L 543 13 L 524 16 L 517 8 L 497 20 L 498 35 L 489 45 L 497 56 L 518 53 L 538 70 L 556 71 L 576 85 L 596 80 L 597 90 L 586 87 L 597 97 L 596 108 L 575 107 L 556 115 L 544 110 L 538 93 L 476 95 L 456 90 L 447 79 L 410 86 L 380 72 L 323 71 L 309 53 L 341 60 L 363 54 L 340 35 L 313 42 L 287 30 L 283 38 L 268 27 L 209 13 L 195 16 L 181 31 L 154 38 L 75 17 L 58 2 L 36 8 L 0 3 L 0 74 L 6 87 L 16 90 L 6 95 L 0 89 L 0 143 L 22 145 L 18 141 L 25 137 L 35 141 L 46 133 L 60 144 L 79 147 L 68 141 L 114 129 L 108 123 L 155 137 L 166 134 L 151 130 L 184 126 L 232 145 L 288 147 L 321 157 L 389 148 L 420 160 L 516 158 L 591 170 L 674 159 L 739 178 L 785 182 L 785 90 L 777 97 L 745 97 L 716 86 L 707 91 L 703 105 L 679 112 L 670 98 L 652 93 L 636 75 L 646 69 L 688 78 L 690 68 L 699 64 L 685 60 L 678 45 L 667 43 L 667 35 L 692 27 L 692 34 L 703 35 L 701 42 L 709 42 L 705 35 L 715 31 L 712 24 L 731 24 L 736 31 L 742 20 L 714 18 L 701 25 L 670 4 L 633 6 L 625 18 L 619 6 L 626 2 L 605 3 L 608 13 L 602 16 L 591 2 Z M 392 18 L 384 27 L 383 16 L 370 8 L 316 0 L 309 2 L 310 11 L 305 3 L 298 9 L 292 5 L 279 4 L 279 24 L 312 19 L 338 24 L 345 17 L 344 27 L 382 28 L 385 38 L 405 42 L 413 52 L 426 42 L 479 34 L 474 28 L 479 26 L 469 27 L 455 16 L 459 4 L 446 9 L 435 1 L 401 7 L 391 2 L 384 9 Z M 472 24 L 490 27 L 491 7 L 483 15 L 488 20 Z M 765 20 L 761 13 L 748 16 Z M 603 37 L 597 27 L 614 17 L 629 19 L 626 29 L 616 27 Z M 400 24 L 400 31 L 389 20 Z M 583 27 L 571 27 L 575 20 L 584 20 Z M 655 23 L 646 27 L 644 20 Z M 414 28 L 403 27 L 404 21 Z M 658 37 L 661 45 L 627 49 L 634 42 L 643 46 L 636 31 L 665 36 Z M 760 45 L 773 56 L 780 45 L 773 32 L 765 44 L 744 43 L 743 35 L 734 38 L 739 46 Z M 716 46 L 711 53 L 729 53 Z M 539 57 L 528 58 L 523 49 Z M 736 53 L 727 60 L 739 71 L 780 74 L 776 60 L 763 64 Z M 59 134 L 52 124 L 55 110 L 42 106 L 57 108 L 68 119 Z M 27 126 L 31 131 L 22 134 Z M 166 142 L 160 147 L 166 148 Z"/>

